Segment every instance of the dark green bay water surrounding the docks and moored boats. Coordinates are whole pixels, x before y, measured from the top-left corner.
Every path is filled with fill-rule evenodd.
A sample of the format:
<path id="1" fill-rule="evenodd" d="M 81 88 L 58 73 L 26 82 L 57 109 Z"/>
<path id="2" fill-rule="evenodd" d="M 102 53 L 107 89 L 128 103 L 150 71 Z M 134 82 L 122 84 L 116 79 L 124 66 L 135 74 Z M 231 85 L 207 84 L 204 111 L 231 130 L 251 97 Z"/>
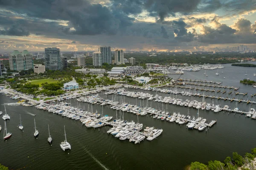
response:
<path id="1" fill-rule="evenodd" d="M 250 97 L 250 94 L 256 93 L 250 85 L 240 84 L 239 81 L 245 76 L 247 71 L 248 78 L 255 80 L 253 77 L 255 68 L 234 67 L 230 64 L 224 65 L 224 73 L 219 77 L 214 75 L 216 70 L 208 71 L 208 77 L 203 75 L 204 71 L 185 72 L 181 78 L 196 78 L 209 81 L 223 82 L 223 85 L 240 87 L 239 92 L 248 92 L 248 96 L 227 95 L 223 96 L 236 98 L 249 98 L 256 100 L 256 97 Z M 231 69 L 232 68 L 232 69 Z M 223 75 L 222 75 L 223 74 Z M 172 75 L 172 77 L 178 77 Z M 224 79 L 223 77 L 226 77 Z M 246 77 L 246 78 L 247 78 Z M 201 87 L 204 88 L 204 87 Z M 212 88 L 213 89 L 213 88 Z M 140 91 L 129 89 L 133 91 Z M 183 89 L 179 89 L 182 91 Z M 223 90 L 223 89 L 222 89 Z M 230 89 L 225 89 L 230 91 Z M 233 90 L 232 90 L 233 91 Z M 147 92 L 147 91 L 142 91 Z M 150 92 L 155 95 L 156 92 Z M 201 91 L 203 93 L 203 91 Z M 157 93 L 159 94 L 159 93 Z M 212 95 L 212 93 L 210 93 Z M 106 98 L 104 93 L 99 93 L 103 98 Z M 170 94 L 162 94 L 161 96 L 170 96 Z M 218 96 L 221 93 L 218 93 Z M 113 98 L 115 96 L 113 95 Z M 112 99 L 112 95 L 107 98 Z M 125 102 L 136 104 L 136 99 L 124 96 L 116 96 L 116 100 L 125 100 Z M 177 98 L 189 100 L 202 100 L 202 98 L 194 96 L 181 96 Z M 207 102 L 214 102 L 216 99 L 205 99 Z M 198 132 L 198 130 L 188 130 L 186 126 L 177 125 L 166 121 L 160 121 L 151 118 L 150 116 L 139 116 L 140 123 L 145 126 L 154 126 L 163 128 L 163 133 L 153 141 L 144 140 L 140 144 L 134 144 L 128 140 L 120 141 L 108 135 L 106 132 L 110 127 L 102 127 L 99 130 L 89 129 L 82 126 L 79 121 L 64 118 L 60 115 L 55 115 L 47 111 L 35 109 L 35 107 L 23 107 L 15 103 L 15 100 L 9 99 L 6 96 L 0 95 L 0 104 L 6 105 L 7 113 L 11 116 L 11 120 L 6 122 L 7 131 L 12 132 L 12 137 L 7 141 L 0 141 L 0 164 L 8 166 L 10 169 L 93 169 L 93 170 L 131 170 L 131 169 L 173 169 L 182 170 L 192 161 L 200 161 L 207 163 L 209 160 L 224 160 L 226 156 L 232 156 L 232 152 L 244 154 L 250 152 L 250 149 L 255 146 L 256 135 L 254 133 L 256 121 L 250 118 L 245 118 L 244 115 L 234 113 L 228 114 L 220 112 L 200 110 L 200 116 L 210 120 L 217 120 L 217 124 L 207 130 L 207 133 Z M 137 99 L 137 104 L 143 105 L 143 100 Z M 88 104 L 81 102 L 77 103 L 74 99 L 71 101 L 72 106 L 80 105 L 81 108 L 87 110 Z M 166 104 L 158 102 L 148 102 L 148 106 L 160 109 L 166 109 Z M 236 103 L 218 101 L 218 104 L 224 106 L 229 105 L 232 109 Z M 146 100 L 144 100 L 146 106 Z M 91 105 L 89 106 L 91 109 Z M 245 103 L 238 104 L 241 110 L 248 111 L 249 107 L 256 108 L 254 105 Z M 180 112 L 186 114 L 187 108 L 167 105 L 169 112 Z M 4 106 L 0 105 L 0 110 L 4 110 Z M 93 110 L 102 112 L 102 107 L 93 105 Z M 108 106 L 103 107 L 104 114 L 116 116 L 116 111 Z M 196 109 L 189 110 L 191 115 L 196 115 Z M 19 130 L 20 123 L 19 114 L 23 122 L 23 131 Z M 36 116 L 32 116 L 35 114 Z M 118 112 L 119 115 L 119 112 Z M 126 113 L 126 120 L 137 121 L 137 115 Z M 34 118 L 36 127 L 39 131 L 37 138 L 34 138 Z M 52 136 L 52 144 L 48 144 L 48 126 Z M 0 119 L 2 130 L 0 135 L 3 136 L 4 121 Z M 64 125 L 66 126 L 67 141 L 71 144 L 71 150 L 64 152 L 59 144 L 64 141 Z"/>

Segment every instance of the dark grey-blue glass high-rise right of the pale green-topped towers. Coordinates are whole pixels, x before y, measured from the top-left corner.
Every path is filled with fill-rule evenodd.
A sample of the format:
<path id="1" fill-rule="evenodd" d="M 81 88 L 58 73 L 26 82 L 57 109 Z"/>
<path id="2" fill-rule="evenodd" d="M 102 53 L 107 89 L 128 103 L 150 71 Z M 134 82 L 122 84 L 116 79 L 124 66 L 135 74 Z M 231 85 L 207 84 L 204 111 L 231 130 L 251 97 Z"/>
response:
<path id="1" fill-rule="evenodd" d="M 61 70 L 64 68 L 63 60 L 61 59 L 60 49 L 56 47 L 44 49 L 45 53 L 45 68 L 50 70 Z"/>

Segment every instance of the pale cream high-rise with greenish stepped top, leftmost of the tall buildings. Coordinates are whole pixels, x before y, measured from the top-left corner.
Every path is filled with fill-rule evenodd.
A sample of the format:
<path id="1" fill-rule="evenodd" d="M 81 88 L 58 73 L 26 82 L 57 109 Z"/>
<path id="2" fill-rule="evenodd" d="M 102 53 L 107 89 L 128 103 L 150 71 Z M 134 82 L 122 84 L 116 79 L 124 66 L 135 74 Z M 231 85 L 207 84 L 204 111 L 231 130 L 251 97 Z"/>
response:
<path id="1" fill-rule="evenodd" d="M 10 69 L 21 71 L 33 69 L 33 56 L 27 50 L 23 50 L 23 52 L 19 52 L 18 50 L 14 50 L 12 54 L 9 55 L 9 63 Z"/>

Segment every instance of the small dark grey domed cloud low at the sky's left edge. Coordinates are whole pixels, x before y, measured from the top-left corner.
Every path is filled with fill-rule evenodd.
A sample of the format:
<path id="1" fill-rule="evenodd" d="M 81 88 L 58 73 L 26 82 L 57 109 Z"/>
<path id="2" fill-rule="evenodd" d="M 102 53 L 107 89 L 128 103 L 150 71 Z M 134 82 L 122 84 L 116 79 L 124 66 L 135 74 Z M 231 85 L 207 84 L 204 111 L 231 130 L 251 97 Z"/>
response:
<path id="1" fill-rule="evenodd" d="M 0 35 L 29 36 L 29 32 L 20 27 L 19 24 L 16 24 L 10 28 L 0 29 Z"/>

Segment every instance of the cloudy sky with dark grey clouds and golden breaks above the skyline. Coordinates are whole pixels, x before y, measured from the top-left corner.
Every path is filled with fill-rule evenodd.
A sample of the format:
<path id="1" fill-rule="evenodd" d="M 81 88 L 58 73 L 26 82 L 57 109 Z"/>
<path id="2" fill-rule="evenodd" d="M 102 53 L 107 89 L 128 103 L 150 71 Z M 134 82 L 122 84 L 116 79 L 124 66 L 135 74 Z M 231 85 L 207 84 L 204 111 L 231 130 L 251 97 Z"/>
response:
<path id="1" fill-rule="evenodd" d="M 256 50 L 256 0 L 0 0 L 0 52 Z"/>

